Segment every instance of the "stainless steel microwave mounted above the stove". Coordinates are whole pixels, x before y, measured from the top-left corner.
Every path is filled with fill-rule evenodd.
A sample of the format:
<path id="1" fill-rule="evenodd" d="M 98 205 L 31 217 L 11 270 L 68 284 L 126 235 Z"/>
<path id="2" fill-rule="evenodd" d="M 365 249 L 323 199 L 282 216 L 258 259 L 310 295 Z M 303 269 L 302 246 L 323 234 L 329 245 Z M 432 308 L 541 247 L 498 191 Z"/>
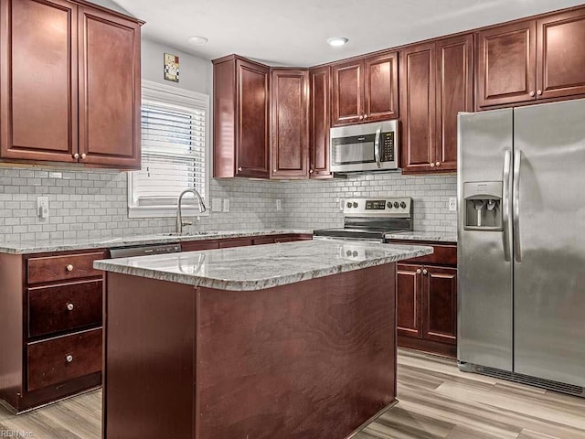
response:
<path id="1" fill-rule="evenodd" d="M 398 121 L 331 128 L 329 142 L 332 172 L 399 168 Z"/>

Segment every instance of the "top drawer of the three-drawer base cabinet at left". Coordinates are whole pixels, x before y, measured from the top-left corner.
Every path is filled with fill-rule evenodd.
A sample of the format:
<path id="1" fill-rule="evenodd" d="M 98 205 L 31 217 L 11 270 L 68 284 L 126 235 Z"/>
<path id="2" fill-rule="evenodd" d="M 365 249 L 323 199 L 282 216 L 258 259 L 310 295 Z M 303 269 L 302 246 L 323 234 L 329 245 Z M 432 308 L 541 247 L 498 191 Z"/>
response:
<path id="1" fill-rule="evenodd" d="M 101 276 L 100 270 L 94 270 L 93 262 L 104 259 L 104 257 L 103 252 L 92 252 L 30 258 L 27 261 L 27 282 L 28 284 L 37 284 Z"/>

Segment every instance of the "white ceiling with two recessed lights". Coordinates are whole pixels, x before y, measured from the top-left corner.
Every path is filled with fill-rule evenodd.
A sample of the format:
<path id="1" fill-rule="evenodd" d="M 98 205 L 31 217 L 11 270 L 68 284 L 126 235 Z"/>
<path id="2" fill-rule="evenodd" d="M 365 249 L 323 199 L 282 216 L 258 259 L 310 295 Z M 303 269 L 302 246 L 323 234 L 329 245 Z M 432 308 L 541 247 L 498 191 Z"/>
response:
<path id="1" fill-rule="evenodd" d="M 230 53 L 309 67 L 553 11 L 583 0 L 115 0 L 143 36 L 204 59 Z M 95 1 L 100 3 L 100 0 Z M 187 37 L 209 39 L 192 46 Z M 328 37 L 348 37 L 331 48 Z"/>

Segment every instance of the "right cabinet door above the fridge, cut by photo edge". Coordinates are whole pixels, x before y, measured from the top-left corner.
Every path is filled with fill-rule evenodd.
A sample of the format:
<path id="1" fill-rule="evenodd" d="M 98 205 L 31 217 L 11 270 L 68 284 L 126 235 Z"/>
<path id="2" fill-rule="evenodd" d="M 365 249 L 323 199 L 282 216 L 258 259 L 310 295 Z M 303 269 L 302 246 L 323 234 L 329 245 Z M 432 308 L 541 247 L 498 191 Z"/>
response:
<path id="1" fill-rule="evenodd" d="M 537 97 L 585 93 L 585 10 L 537 20 Z"/>

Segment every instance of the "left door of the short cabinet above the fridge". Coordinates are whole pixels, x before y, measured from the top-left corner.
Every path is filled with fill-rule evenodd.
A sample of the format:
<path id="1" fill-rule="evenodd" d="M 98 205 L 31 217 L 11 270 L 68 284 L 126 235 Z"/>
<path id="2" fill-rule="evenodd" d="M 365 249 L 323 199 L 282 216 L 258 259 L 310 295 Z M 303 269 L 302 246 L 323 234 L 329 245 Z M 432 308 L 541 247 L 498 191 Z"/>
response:
<path id="1" fill-rule="evenodd" d="M 478 33 L 479 108 L 536 99 L 536 47 L 534 20 Z"/>

